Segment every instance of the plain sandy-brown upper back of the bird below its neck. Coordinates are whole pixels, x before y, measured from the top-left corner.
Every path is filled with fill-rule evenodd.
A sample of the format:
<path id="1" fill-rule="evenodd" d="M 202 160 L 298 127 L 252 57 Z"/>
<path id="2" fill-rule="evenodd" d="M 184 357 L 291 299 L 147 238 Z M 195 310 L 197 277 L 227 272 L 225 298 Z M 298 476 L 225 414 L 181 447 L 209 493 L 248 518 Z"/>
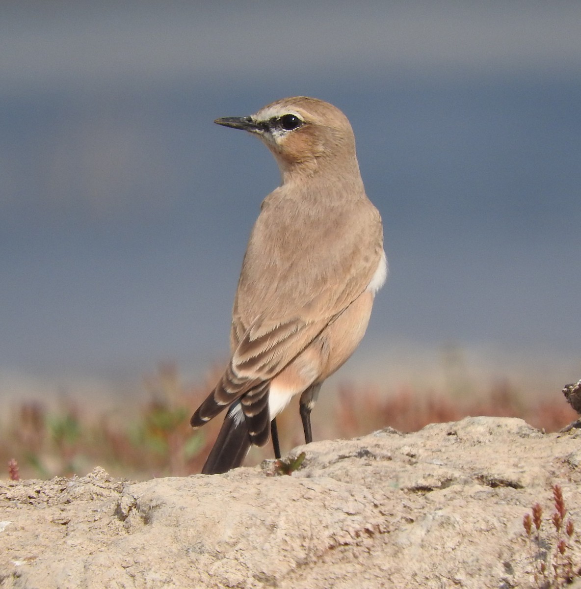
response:
<path id="1" fill-rule="evenodd" d="M 381 217 L 362 190 L 351 198 L 336 197 L 325 186 L 305 192 L 297 198 L 296 189 L 283 186 L 263 203 L 234 307 L 235 320 L 245 326 L 258 316 L 284 321 L 304 314 L 321 296 L 334 315 L 348 302 L 341 294 L 357 297 L 380 262 Z"/>

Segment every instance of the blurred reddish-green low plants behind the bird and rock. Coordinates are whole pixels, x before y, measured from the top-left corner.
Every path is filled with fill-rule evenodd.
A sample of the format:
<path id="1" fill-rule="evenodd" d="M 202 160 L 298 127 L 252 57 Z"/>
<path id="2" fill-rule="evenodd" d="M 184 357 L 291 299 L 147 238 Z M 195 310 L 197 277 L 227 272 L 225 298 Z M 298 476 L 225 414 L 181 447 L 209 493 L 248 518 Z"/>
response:
<path id="1" fill-rule="evenodd" d="M 131 413 L 95 415 L 94 406 L 81 408 L 72 401 L 61 403 L 57 411 L 48 411 L 41 402 L 12 408 L 0 429 L 0 464 L 4 464 L 0 477 L 14 476 L 14 472 L 21 478 L 83 475 L 95 465 L 133 479 L 199 472 L 221 419 L 194 432 L 189 418 L 210 385 L 185 386 L 168 364 L 145 379 L 145 388 L 144 398 L 149 401 Z M 428 423 L 467 415 L 520 417 L 550 432 L 576 418 L 560 391 L 550 401 L 526 403 L 523 399 L 526 396 L 509 383 L 499 383 L 486 395 L 470 396 L 446 396 L 410 386 L 383 392 L 344 385 L 328 405 L 329 411 L 315 409 L 315 437 L 352 438 L 386 426 L 417 431 Z M 303 441 L 295 409 L 278 418 L 283 453 Z M 270 445 L 253 450 L 249 462 L 267 457 L 271 457 Z"/>

